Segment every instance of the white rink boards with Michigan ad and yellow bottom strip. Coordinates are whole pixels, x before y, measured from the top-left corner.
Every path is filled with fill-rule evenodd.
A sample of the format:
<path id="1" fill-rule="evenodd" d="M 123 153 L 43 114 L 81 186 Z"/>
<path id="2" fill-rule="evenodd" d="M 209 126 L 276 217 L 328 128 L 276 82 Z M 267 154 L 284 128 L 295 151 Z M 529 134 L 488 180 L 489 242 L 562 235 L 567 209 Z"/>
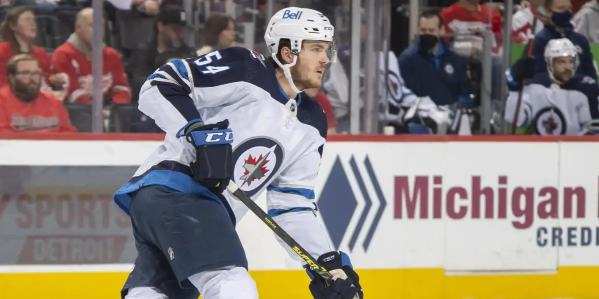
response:
<path id="1" fill-rule="evenodd" d="M 135 248 L 110 194 L 158 144 L 2 141 L 0 298 L 117 298 Z M 367 298 L 597 298 L 597 152 L 588 138 L 335 138 L 319 219 Z M 262 222 L 237 230 L 261 298 L 309 298 Z"/>

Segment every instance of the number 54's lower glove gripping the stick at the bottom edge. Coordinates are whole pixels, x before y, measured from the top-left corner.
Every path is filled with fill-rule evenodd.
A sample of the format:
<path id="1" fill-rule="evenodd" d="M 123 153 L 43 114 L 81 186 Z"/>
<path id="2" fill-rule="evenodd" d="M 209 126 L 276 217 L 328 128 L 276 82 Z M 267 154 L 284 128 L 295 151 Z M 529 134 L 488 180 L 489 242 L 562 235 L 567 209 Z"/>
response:
<path id="1" fill-rule="evenodd" d="M 335 281 L 340 279 L 352 280 L 352 285 L 355 286 L 357 290 L 357 292 L 354 292 L 352 296 L 346 297 L 347 295 L 352 294 L 352 289 L 347 287 L 344 283 L 337 282 L 337 284 L 331 283 L 330 286 L 326 287 L 327 292 L 325 292 L 324 295 L 334 294 L 334 292 L 337 292 L 337 294 L 342 294 L 343 297 L 330 298 L 364 299 L 364 292 L 362 291 L 362 286 L 360 285 L 360 277 L 358 276 L 358 273 L 356 273 L 356 271 L 353 270 L 352 261 L 349 260 L 349 256 L 347 256 L 345 252 L 327 252 L 326 254 L 320 255 L 320 257 L 317 258 L 317 261 L 320 264 L 320 266 L 324 267 L 326 270 L 329 271 L 329 273 L 333 275 L 334 278 L 336 278 Z M 310 292 L 312 292 L 312 296 L 315 299 L 329 299 L 329 297 L 322 297 L 323 285 L 326 286 L 325 280 L 322 278 L 322 276 L 320 276 L 316 273 L 316 271 L 308 267 L 306 268 L 306 271 L 308 273 L 308 276 L 310 276 L 310 278 L 312 279 L 312 281 L 310 282 Z M 333 287 L 337 288 L 337 291 L 335 291 Z M 321 290 L 321 292 L 317 292 L 318 290 Z M 345 291 L 345 293 L 340 293 L 340 291 Z M 320 295 L 321 297 L 317 297 L 317 295 Z"/>

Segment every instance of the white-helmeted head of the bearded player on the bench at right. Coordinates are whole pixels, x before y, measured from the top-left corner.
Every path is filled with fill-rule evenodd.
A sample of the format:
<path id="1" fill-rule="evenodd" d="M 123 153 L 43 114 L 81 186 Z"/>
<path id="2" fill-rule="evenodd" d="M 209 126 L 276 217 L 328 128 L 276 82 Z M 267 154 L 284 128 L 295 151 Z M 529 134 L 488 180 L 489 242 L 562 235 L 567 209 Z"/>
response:
<path id="1" fill-rule="evenodd" d="M 545 47 L 545 62 L 553 82 L 564 84 L 576 73 L 579 50 L 567 38 L 552 39 Z"/>

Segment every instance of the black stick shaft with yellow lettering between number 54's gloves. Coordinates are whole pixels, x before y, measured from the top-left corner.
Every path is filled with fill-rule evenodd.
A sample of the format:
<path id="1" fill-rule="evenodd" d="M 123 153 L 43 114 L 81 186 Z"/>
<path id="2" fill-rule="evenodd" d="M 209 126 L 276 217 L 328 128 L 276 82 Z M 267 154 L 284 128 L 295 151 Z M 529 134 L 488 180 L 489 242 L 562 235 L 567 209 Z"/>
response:
<path id="1" fill-rule="evenodd" d="M 274 231 L 277 236 L 279 236 L 285 244 L 287 244 L 291 249 L 295 251 L 295 253 L 301 257 L 309 266 L 310 269 L 316 271 L 323 279 L 325 279 L 326 283 L 330 283 L 333 280 L 333 276 L 329 271 L 320 266 L 316 259 L 313 258 L 301 245 L 298 244 L 297 241 L 294 240 L 289 234 L 280 227 L 277 222 L 270 218 L 267 213 L 264 212 L 256 203 L 250 199 L 249 196 L 243 190 L 241 190 L 237 184 L 233 180 L 229 181 L 229 185 L 226 187 L 231 194 L 233 194 L 237 199 L 241 200 L 244 205 L 247 206 L 258 218 L 262 219 L 262 222 L 268 225 L 272 231 Z"/>

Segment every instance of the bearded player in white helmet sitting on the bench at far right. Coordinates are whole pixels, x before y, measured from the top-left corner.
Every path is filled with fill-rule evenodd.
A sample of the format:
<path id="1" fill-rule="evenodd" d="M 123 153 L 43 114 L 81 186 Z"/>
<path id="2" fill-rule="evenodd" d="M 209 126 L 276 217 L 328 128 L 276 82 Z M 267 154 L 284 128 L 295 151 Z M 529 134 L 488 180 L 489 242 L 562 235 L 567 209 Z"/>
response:
<path id="1" fill-rule="evenodd" d="M 522 80 L 527 80 L 518 110 L 518 127 L 536 135 L 582 135 L 599 118 L 599 86 L 577 76 L 576 46 L 567 38 L 552 39 L 545 48 L 547 72 L 534 75 L 534 58 L 523 57 L 506 71 L 510 87 L 504 118 L 513 123 Z M 534 77 L 533 77 L 534 76 Z"/>

